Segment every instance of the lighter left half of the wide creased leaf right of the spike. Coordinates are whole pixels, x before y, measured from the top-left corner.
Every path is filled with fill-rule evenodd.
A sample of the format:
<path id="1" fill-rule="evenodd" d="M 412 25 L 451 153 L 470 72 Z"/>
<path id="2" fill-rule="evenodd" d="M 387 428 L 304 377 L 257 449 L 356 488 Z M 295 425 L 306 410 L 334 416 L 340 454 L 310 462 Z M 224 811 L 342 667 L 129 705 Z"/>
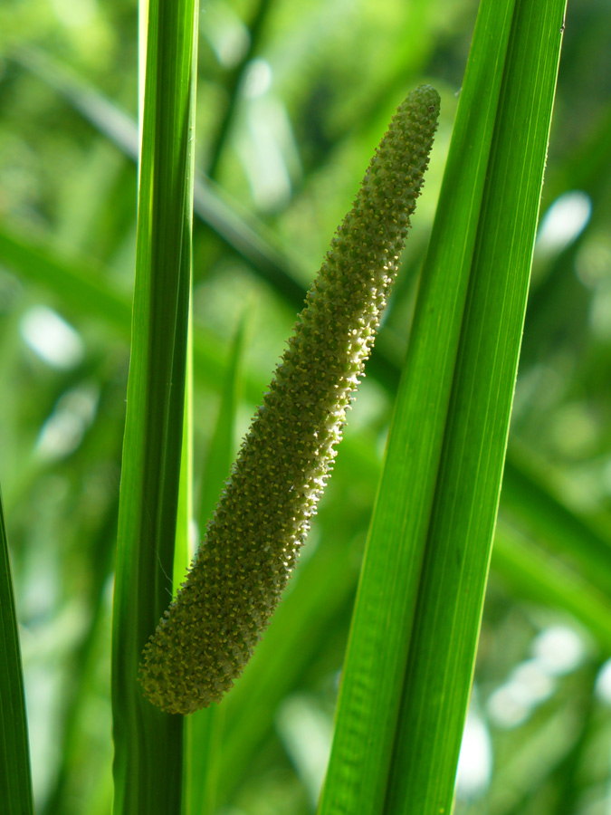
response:
<path id="1" fill-rule="evenodd" d="M 366 815 L 384 806 L 512 10 L 511 0 L 495 10 L 484 4 L 473 37 L 479 59 L 467 69 L 418 293 L 320 815 Z"/>

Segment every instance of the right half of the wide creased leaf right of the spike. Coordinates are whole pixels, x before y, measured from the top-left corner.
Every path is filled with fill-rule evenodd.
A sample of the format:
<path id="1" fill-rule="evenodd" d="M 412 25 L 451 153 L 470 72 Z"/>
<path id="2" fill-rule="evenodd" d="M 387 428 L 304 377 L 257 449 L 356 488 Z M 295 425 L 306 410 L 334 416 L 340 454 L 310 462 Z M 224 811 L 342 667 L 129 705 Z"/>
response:
<path id="1" fill-rule="evenodd" d="M 449 811 L 499 503 L 566 0 L 517 0 L 385 811 Z M 483 3 L 497 8 L 494 3 Z M 443 206 L 443 202 L 442 205 Z"/>

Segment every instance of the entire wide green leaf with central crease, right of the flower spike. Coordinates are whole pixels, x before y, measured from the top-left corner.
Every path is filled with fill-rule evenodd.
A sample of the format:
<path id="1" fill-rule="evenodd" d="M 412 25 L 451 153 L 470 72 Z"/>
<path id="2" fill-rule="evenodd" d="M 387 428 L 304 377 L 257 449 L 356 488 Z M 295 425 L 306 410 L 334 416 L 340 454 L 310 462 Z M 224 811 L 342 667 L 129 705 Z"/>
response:
<path id="1" fill-rule="evenodd" d="M 540 7 L 529 39 L 532 5 L 480 8 L 359 587 L 324 815 L 451 808 L 558 67 L 563 4 Z M 513 138 L 517 121 L 525 140 Z"/>

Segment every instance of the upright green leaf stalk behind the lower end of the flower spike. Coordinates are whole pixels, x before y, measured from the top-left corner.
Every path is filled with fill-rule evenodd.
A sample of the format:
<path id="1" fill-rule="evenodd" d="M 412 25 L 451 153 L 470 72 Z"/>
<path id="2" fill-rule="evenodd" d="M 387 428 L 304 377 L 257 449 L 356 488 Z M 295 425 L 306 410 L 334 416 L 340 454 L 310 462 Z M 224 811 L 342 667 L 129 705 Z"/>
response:
<path id="1" fill-rule="evenodd" d="M 195 0 L 148 5 L 113 618 L 115 815 L 181 810 L 182 719 L 148 704 L 137 671 L 172 593 L 191 266 L 195 22 Z"/>

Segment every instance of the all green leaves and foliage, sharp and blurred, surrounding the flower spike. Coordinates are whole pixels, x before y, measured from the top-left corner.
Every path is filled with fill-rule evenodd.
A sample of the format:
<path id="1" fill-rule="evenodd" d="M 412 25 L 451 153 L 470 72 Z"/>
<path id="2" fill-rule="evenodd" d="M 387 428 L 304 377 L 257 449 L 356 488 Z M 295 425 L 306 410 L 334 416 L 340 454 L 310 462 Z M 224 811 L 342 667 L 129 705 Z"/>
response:
<path id="1" fill-rule="evenodd" d="M 457 815 L 606 811 L 611 14 L 568 8 L 557 85 L 564 0 L 200 11 L 149 0 L 140 152 L 135 5 L 0 10 L 3 812 L 433 815 L 462 742 Z M 162 713 L 142 647 L 423 82 L 425 191 L 301 560 L 224 700 Z"/>

